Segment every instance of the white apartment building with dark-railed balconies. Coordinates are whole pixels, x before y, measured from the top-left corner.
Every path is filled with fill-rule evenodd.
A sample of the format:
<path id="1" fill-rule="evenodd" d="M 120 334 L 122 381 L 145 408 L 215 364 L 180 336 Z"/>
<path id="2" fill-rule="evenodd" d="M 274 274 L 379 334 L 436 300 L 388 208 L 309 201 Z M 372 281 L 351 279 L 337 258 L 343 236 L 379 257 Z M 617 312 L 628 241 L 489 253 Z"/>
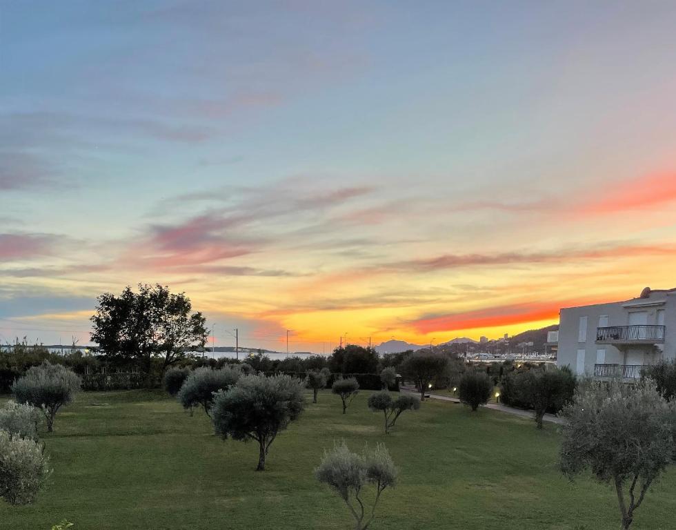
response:
<path id="1" fill-rule="evenodd" d="M 676 357 L 676 288 L 560 314 L 557 364 L 577 374 L 635 379 L 641 366 Z"/>

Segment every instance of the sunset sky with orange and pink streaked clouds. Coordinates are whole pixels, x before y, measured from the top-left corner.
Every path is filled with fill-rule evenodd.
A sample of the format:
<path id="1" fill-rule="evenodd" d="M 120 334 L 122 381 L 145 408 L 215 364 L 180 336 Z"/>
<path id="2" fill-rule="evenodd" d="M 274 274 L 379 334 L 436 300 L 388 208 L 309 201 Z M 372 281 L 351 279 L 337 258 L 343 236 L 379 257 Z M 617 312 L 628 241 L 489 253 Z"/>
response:
<path id="1" fill-rule="evenodd" d="M 676 287 L 673 1 L 0 0 L 0 341 L 185 292 L 217 346 Z"/>

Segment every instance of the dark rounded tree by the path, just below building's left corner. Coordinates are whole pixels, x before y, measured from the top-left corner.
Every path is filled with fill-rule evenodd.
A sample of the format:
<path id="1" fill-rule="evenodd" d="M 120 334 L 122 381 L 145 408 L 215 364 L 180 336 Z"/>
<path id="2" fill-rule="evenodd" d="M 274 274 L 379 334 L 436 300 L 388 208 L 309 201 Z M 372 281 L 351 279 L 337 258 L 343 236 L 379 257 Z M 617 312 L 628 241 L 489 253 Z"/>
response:
<path id="1" fill-rule="evenodd" d="M 560 369 L 529 370 L 515 375 L 517 397 L 535 411 L 535 422 L 542 429 L 545 413 L 559 411 L 573 398 L 575 375 L 566 366 Z"/>

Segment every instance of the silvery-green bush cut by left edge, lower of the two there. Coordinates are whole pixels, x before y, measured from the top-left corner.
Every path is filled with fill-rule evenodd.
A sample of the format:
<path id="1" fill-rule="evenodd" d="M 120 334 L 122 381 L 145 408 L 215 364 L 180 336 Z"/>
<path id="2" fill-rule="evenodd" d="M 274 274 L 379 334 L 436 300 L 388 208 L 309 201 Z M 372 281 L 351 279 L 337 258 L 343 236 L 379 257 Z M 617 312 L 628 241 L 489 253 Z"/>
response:
<path id="1" fill-rule="evenodd" d="M 48 475 L 40 444 L 0 429 L 0 497 L 10 504 L 30 504 Z"/>

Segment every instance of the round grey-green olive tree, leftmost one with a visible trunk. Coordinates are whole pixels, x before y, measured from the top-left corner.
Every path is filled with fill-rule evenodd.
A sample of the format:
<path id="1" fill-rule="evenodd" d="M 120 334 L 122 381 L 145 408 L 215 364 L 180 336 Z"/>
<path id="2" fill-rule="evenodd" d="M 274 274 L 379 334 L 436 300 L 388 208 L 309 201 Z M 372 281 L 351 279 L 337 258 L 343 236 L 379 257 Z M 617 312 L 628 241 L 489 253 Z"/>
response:
<path id="1" fill-rule="evenodd" d="M 70 403 L 79 392 L 80 378 L 66 366 L 48 361 L 32 366 L 26 375 L 14 381 L 12 393 L 19 403 L 42 409 L 47 430 L 54 430 L 54 417 L 63 405 Z"/>

